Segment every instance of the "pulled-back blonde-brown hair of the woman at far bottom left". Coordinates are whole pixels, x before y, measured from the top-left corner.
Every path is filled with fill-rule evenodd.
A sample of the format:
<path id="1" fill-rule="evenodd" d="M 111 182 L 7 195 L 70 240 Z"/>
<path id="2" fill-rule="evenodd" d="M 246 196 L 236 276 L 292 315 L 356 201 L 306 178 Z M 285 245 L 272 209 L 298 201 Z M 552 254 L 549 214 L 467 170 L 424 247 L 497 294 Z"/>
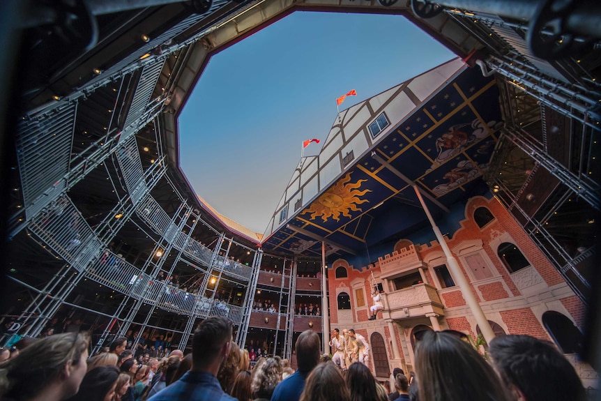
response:
<path id="1" fill-rule="evenodd" d="M 88 333 L 63 333 L 34 342 L 0 365 L 0 399 L 27 400 L 60 379 L 66 365 L 78 365 L 88 348 Z M 73 394 L 71 394 L 73 395 Z"/>

